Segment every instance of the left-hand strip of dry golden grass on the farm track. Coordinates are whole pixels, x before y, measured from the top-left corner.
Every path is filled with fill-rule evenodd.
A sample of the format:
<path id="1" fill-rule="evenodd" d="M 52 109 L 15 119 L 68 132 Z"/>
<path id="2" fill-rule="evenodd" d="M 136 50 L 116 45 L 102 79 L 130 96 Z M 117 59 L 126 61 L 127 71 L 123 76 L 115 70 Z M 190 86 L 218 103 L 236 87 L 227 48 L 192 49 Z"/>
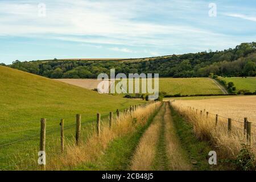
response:
<path id="1" fill-rule="evenodd" d="M 155 116 L 152 124 L 141 138 L 137 150 L 133 156 L 131 170 L 133 171 L 149 171 L 152 170 L 152 164 L 154 162 L 156 154 L 156 145 L 158 143 L 160 125 L 160 119 L 164 114 L 163 106 L 158 114 Z"/>

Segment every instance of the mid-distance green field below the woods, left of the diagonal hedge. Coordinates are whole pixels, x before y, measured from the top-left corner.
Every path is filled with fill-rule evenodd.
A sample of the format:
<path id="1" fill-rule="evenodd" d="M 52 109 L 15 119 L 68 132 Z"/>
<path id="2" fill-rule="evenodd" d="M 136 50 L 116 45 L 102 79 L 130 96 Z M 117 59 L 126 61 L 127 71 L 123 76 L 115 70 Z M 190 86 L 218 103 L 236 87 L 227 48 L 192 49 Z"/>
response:
<path id="1" fill-rule="evenodd" d="M 159 78 L 159 91 L 171 95 L 223 94 L 210 78 Z"/>

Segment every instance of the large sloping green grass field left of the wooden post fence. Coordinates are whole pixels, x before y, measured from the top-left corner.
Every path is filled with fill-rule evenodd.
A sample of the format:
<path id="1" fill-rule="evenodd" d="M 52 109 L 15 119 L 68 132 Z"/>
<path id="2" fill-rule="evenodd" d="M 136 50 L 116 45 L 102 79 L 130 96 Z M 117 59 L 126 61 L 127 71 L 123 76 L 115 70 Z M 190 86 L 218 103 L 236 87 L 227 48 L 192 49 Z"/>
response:
<path id="1" fill-rule="evenodd" d="M 0 170 L 16 169 L 24 160 L 37 160 L 40 118 L 47 118 L 47 151 L 58 147 L 60 118 L 65 137 L 75 135 L 81 114 L 82 135 L 90 134 L 96 113 L 125 109 L 142 101 L 98 94 L 77 86 L 0 66 Z M 26 167 L 30 167 L 29 165 Z M 23 168 L 26 169 L 26 168 Z"/>

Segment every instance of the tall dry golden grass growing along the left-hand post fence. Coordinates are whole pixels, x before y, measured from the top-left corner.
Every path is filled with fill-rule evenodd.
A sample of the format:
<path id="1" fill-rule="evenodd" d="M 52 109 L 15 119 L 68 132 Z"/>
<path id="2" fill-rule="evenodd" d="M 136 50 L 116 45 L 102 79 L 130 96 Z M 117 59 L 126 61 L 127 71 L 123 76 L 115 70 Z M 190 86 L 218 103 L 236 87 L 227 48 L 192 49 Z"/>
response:
<path id="1" fill-rule="evenodd" d="M 93 163 L 104 154 L 109 143 L 118 137 L 135 132 L 138 127 L 146 125 L 148 118 L 159 109 L 160 102 L 138 108 L 132 113 L 121 113 L 114 117 L 112 127 L 109 118 L 101 121 L 101 135 L 96 132 L 96 122 L 92 125 L 94 132 L 85 141 L 76 146 L 75 141 L 69 141 L 64 154 L 48 159 L 48 170 L 72 169 L 82 163 Z"/>

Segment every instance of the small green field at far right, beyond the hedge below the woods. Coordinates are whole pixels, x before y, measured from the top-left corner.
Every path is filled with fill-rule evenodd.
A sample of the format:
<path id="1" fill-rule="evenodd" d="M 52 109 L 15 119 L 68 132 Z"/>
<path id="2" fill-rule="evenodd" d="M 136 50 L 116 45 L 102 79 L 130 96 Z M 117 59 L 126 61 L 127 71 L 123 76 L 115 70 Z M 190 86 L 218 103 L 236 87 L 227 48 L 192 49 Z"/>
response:
<path id="1" fill-rule="evenodd" d="M 228 82 L 233 82 L 238 90 L 249 90 L 250 92 L 255 92 L 256 90 L 256 77 L 221 77 L 222 80 Z"/>

